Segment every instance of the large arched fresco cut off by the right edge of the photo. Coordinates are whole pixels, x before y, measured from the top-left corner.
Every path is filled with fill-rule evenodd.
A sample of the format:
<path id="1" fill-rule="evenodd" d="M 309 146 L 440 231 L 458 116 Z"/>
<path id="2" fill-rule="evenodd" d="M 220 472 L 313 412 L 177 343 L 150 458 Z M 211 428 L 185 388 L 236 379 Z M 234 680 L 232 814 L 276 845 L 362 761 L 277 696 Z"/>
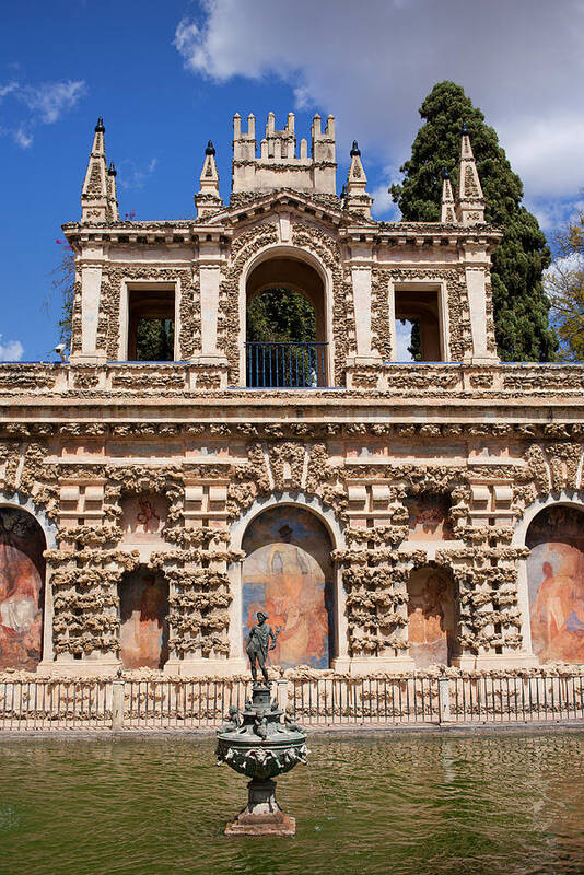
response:
<path id="1" fill-rule="evenodd" d="M 541 663 L 584 663 L 584 513 L 541 511 L 526 545 L 534 653 Z"/>

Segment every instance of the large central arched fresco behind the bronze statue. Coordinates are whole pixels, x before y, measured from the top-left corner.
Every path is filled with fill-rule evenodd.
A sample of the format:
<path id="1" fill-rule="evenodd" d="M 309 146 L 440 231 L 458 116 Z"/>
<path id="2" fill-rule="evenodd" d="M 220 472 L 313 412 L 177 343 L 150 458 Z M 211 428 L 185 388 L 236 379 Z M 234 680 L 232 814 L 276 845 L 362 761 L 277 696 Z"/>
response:
<path id="1" fill-rule="evenodd" d="M 243 549 L 243 642 L 265 610 L 281 627 L 272 665 L 327 668 L 334 642 L 332 549 L 325 526 L 309 511 L 287 505 L 257 516 Z"/>

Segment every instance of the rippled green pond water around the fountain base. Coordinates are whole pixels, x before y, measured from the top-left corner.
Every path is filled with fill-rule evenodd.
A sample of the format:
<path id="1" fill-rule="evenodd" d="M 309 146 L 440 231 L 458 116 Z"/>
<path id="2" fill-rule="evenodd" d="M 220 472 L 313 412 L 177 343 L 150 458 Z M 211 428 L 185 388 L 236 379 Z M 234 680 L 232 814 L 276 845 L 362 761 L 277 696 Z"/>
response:
<path id="1" fill-rule="evenodd" d="M 294 839 L 226 838 L 211 739 L 0 743 L 1 875 L 584 873 L 584 733 L 312 736 Z"/>

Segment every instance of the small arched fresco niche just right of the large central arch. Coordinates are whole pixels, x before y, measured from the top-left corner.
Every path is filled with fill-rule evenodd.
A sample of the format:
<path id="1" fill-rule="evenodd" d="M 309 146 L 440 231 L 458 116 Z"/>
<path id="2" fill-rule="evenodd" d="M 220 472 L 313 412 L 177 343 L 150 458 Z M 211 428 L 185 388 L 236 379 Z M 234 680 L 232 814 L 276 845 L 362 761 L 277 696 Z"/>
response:
<path id="1" fill-rule="evenodd" d="M 416 668 L 449 665 L 457 655 L 454 587 L 447 572 L 421 568 L 408 581 L 408 643 Z"/>

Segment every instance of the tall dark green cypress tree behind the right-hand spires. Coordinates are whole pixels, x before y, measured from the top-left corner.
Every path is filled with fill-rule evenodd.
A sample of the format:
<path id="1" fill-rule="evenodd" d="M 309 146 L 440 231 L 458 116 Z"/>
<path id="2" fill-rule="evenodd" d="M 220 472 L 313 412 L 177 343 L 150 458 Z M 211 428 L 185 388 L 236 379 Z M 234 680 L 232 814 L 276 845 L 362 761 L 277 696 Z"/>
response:
<path id="1" fill-rule="evenodd" d="M 558 341 L 548 327 L 549 302 L 542 271 L 551 255 L 537 219 L 521 201 L 523 184 L 513 173 L 484 116 L 464 89 L 440 82 L 420 107 L 424 125 L 418 131 L 411 159 L 401 167 L 401 185 L 390 188 L 405 221 L 440 220 L 442 171 L 456 185 L 460 128 L 466 121 L 486 198 L 486 220 L 504 236 L 492 257 L 495 336 L 502 361 L 553 361 Z"/>

